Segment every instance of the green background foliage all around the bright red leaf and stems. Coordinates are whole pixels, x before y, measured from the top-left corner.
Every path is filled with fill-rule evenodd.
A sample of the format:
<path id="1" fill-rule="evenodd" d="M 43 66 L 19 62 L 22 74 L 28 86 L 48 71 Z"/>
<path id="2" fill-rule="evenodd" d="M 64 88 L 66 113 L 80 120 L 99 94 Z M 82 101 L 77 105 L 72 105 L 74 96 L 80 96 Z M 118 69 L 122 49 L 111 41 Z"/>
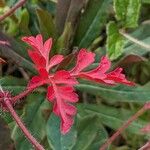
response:
<path id="1" fill-rule="evenodd" d="M 8 11 L 16 2 L 1 2 L 0 14 Z M 61 11 L 56 7 L 60 2 Z M 72 0 L 70 3 L 68 0 L 67 8 L 64 8 L 63 2 L 27 1 L 23 8 L 19 8 L 0 23 L 3 31 L 0 33 L 0 40 L 10 43 L 9 46 L 0 44 L 0 57 L 7 62 L 0 71 L 0 85 L 12 95 L 17 95 L 26 88 L 27 81 L 23 78 L 28 79 L 36 74 L 25 50 L 27 47 L 22 46 L 20 41 L 22 36 L 41 33 L 44 39 L 53 38 L 52 55 L 56 52 L 65 55 L 72 53 L 65 58 L 60 68 L 73 66 L 70 60 L 74 60 L 74 51 L 80 48 L 89 48 L 89 51 L 95 52 L 96 62 L 90 67 L 97 66 L 102 55 L 108 55 L 113 67 L 123 67 L 129 78 L 137 81 L 137 85 L 106 87 L 81 81 L 76 89 L 82 104 L 77 104 L 75 123 L 67 135 L 60 133 L 60 120 L 51 113 L 51 106 L 44 98 L 45 89 L 38 89 L 38 92 L 24 98 L 24 103 L 16 104 L 17 113 L 27 128 L 47 150 L 98 150 L 110 133 L 117 130 L 143 103 L 150 100 L 150 49 L 139 46 L 138 42 L 131 42 L 121 34 L 124 31 L 137 41 L 150 45 L 150 1 Z M 59 19 L 62 20 L 56 28 Z M 61 33 L 58 33 L 58 28 L 62 30 Z M 17 67 L 15 71 L 8 73 L 12 63 Z M 19 67 L 22 67 L 22 72 Z M 5 74 L 11 76 L 4 76 Z M 140 83 L 144 85 L 141 86 Z M 33 149 L 10 115 L 2 110 L 0 113 L 11 129 L 16 149 Z M 148 118 L 149 112 L 133 122 L 112 149 L 138 149 L 143 145 L 149 135 L 143 137 L 140 129 L 149 123 Z M 138 143 L 134 136 L 142 139 L 141 142 Z M 119 147 L 117 144 L 123 146 Z"/>

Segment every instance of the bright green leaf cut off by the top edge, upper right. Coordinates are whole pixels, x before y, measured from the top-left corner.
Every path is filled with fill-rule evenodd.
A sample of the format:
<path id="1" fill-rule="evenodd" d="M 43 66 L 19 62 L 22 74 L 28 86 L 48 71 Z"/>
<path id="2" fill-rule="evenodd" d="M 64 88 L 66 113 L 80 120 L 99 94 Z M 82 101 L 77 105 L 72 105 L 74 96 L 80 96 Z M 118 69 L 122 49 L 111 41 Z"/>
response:
<path id="1" fill-rule="evenodd" d="M 127 28 L 134 28 L 138 25 L 140 7 L 141 0 L 114 0 L 116 18 Z"/>

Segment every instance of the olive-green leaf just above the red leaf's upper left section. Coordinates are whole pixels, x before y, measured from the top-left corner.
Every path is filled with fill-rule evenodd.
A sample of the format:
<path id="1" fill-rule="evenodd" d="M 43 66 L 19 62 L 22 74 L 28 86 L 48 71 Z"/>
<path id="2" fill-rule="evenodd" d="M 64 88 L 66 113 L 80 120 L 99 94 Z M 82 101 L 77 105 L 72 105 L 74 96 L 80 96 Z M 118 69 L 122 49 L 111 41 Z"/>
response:
<path id="1" fill-rule="evenodd" d="M 55 37 L 55 26 L 51 14 L 43 9 L 36 9 L 36 14 L 39 21 L 39 29 L 45 39 Z"/>

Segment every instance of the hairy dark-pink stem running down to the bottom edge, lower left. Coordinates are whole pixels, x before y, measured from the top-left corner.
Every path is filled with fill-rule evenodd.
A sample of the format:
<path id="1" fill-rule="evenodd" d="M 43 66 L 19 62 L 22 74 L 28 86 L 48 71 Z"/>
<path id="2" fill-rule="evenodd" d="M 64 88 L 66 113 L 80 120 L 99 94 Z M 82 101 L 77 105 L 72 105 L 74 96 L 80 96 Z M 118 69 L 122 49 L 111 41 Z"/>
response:
<path id="1" fill-rule="evenodd" d="M 14 118 L 14 120 L 16 121 L 16 123 L 18 124 L 19 128 L 22 130 L 22 132 L 26 136 L 26 138 L 31 142 L 31 144 L 34 145 L 35 149 L 37 149 L 37 150 L 45 150 L 43 148 L 43 146 L 40 145 L 37 142 L 37 140 L 31 135 L 31 133 L 27 130 L 27 128 L 25 127 L 25 125 L 22 123 L 21 119 L 19 118 L 19 116 L 17 115 L 17 113 L 15 112 L 15 110 L 13 109 L 10 100 L 11 99 L 4 98 L 4 103 L 7 106 L 7 109 L 11 113 L 12 117 Z"/>

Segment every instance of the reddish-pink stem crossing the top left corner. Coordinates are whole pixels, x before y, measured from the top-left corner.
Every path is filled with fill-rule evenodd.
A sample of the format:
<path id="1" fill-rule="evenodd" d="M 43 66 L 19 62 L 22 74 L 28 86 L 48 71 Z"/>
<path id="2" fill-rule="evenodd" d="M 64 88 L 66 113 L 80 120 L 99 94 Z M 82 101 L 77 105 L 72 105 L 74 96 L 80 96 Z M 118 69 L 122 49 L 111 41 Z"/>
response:
<path id="1" fill-rule="evenodd" d="M 16 3 L 10 10 L 8 10 L 6 13 L 0 16 L 0 21 L 4 20 L 5 18 L 12 15 L 19 7 L 21 7 L 27 0 L 20 0 L 18 3 Z"/>

